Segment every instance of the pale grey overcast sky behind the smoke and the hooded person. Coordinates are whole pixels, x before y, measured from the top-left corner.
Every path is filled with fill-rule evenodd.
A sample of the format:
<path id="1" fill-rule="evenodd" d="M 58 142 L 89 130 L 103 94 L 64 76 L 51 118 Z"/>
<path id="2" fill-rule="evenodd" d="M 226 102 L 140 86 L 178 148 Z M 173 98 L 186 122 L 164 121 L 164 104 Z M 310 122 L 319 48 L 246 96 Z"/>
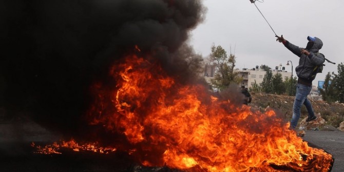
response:
<path id="1" fill-rule="evenodd" d="M 323 81 L 328 72 L 336 72 L 337 65 L 344 62 L 343 0 L 265 0 L 256 1 L 256 5 L 276 34 L 283 34 L 292 44 L 305 47 L 308 35 L 322 40 L 320 52 L 336 65 L 325 62 L 323 72 L 317 75 L 313 85 Z M 285 64 L 292 61 L 293 74 L 296 74 L 298 56 L 276 42 L 274 32 L 249 0 L 205 0 L 204 6 L 208 9 L 205 21 L 190 37 L 190 44 L 197 53 L 208 56 L 215 44 L 229 54 L 232 47 L 240 69 L 262 64 L 275 68 L 282 64 L 291 71 L 291 66 Z"/>

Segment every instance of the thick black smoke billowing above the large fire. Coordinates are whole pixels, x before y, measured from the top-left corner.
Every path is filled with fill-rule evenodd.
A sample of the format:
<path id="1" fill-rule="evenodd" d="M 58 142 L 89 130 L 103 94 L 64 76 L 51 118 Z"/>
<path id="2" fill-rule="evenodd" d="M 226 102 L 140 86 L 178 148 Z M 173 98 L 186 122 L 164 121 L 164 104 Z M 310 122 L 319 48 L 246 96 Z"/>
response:
<path id="1" fill-rule="evenodd" d="M 0 9 L 2 113 L 66 131 L 82 125 L 90 86 L 135 45 L 170 74 L 185 72 L 174 54 L 205 12 L 200 0 L 13 0 Z"/>

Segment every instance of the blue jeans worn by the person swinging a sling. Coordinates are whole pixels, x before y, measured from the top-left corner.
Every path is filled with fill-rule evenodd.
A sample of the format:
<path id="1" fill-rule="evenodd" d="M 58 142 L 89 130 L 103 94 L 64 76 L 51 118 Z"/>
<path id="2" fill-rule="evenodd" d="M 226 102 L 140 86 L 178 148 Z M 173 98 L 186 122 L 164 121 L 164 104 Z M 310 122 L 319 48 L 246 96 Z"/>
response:
<path id="1" fill-rule="evenodd" d="M 290 125 L 293 129 L 296 128 L 297 122 L 301 115 L 301 106 L 304 104 L 308 111 L 308 118 L 314 116 L 314 111 L 311 102 L 307 99 L 307 95 L 311 92 L 312 86 L 296 84 L 296 95 L 293 106 L 293 116 Z"/>

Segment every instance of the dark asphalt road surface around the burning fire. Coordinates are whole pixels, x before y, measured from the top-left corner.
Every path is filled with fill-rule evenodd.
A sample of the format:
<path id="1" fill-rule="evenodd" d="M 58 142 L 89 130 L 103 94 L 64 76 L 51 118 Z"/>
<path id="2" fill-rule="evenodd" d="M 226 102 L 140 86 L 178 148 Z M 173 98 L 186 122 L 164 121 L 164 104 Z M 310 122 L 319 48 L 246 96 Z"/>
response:
<path id="1" fill-rule="evenodd" d="M 306 131 L 302 139 L 309 142 L 310 146 L 322 148 L 333 155 L 335 161 L 332 172 L 344 171 L 344 132 Z M 60 156 L 37 155 L 32 153 L 34 149 L 29 144 L 31 141 L 52 143 L 58 140 L 58 135 L 34 123 L 0 123 L 0 171 L 146 171 L 131 169 L 132 160 L 121 152 L 110 156 L 73 151 L 66 151 Z"/>

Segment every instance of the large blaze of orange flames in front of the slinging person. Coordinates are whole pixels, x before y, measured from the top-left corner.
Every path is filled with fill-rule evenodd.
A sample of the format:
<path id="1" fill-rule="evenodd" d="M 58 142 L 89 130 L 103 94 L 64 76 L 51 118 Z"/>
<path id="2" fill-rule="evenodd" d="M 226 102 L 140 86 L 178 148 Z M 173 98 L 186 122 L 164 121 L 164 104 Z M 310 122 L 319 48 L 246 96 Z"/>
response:
<path id="1" fill-rule="evenodd" d="M 88 118 L 122 133 L 131 144 L 129 154 L 144 165 L 207 171 L 331 168 L 330 154 L 309 147 L 272 110 L 252 111 L 213 97 L 202 85 L 179 84 L 137 55 L 109 74 L 117 85 L 94 85 L 97 101 Z"/>

